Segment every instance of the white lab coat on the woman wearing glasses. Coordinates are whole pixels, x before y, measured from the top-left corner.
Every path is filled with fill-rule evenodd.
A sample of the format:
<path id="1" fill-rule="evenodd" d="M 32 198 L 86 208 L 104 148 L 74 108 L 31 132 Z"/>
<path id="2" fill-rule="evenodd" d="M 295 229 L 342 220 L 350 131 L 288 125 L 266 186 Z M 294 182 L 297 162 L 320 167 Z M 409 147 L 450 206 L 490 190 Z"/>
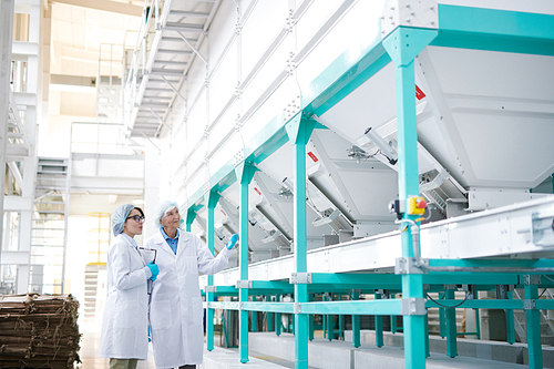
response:
<path id="1" fill-rule="evenodd" d="M 99 357 L 145 360 L 148 355 L 148 294 L 152 276 L 138 250 L 117 235 L 107 252 L 107 299 Z"/>

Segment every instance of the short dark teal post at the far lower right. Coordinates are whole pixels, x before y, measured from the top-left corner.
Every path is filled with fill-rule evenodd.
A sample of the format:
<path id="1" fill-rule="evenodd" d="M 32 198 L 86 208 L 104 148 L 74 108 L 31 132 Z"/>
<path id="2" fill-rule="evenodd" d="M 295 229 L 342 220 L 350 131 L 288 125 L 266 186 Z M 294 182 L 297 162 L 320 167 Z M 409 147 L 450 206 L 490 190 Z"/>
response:
<path id="1" fill-rule="evenodd" d="M 535 309 L 534 303 L 538 299 L 536 283 L 540 276 L 524 276 L 525 285 L 525 326 L 527 329 L 529 367 L 538 369 L 543 367 L 543 352 L 541 348 L 541 320 L 540 311 Z"/>

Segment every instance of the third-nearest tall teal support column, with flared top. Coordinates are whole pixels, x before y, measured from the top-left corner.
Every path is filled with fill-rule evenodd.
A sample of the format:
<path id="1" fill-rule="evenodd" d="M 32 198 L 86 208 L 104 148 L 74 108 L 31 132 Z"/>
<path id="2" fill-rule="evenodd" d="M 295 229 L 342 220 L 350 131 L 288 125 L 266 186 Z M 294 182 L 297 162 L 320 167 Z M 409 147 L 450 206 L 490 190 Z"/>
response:
<path id="1" fill-rule="evenodd" d="M 239 209 L 238 209 L 238 239 L 239 244 L 239 255 L 238 255 L 238 268 L 240 269 L 240 280 L 248 280 L 248 185 L 254 177 L 256 168 L 249 163 L 240 163 L 235 167 L 235 174 L 237 176 L 237 182 L 240 185 L 239 193 Z M 238 301 L 248 301 L 248 289 L 240 288 L 238 290 Z M 253 315 L 254 324 L 254 315 Z M 238 356 L 240 362 L 248 362 L 248 311 L 238 311 Z"/>

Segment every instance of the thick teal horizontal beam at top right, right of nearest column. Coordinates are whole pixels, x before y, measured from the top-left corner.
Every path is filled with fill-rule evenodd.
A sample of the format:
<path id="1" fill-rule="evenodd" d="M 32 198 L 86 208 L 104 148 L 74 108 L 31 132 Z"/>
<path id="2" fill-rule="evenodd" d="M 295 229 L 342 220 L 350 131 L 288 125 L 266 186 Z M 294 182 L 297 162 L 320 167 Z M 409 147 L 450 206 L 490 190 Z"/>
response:
<path id="1" fill-rule="evenodd" d="M 554 16 L 439 4 L 431 45 L 554 55 Z"/>

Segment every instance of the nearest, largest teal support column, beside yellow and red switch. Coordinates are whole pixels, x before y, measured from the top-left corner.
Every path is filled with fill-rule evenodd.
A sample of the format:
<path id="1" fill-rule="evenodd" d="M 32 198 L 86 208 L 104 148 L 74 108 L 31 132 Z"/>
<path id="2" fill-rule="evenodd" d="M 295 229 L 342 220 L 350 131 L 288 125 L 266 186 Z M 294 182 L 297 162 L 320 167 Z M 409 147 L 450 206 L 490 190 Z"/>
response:
<path id="1" fill-rule="evenodd" d="M 404 204 L 411 196 L 419 196 L 418 127 L 416 116 L 416 76 L 413 60 L 438 34 L 438 30 L 398 27 L 386 37 L 382 44 L 396 65 L 398 191 Z M 404 214 L 414 221 L 416 215 Z M 404 227 L 402 224 L 400 227 Z M 419 225 L 416 225 L 419 227 Z M 401 236 L 402 257 L 413 257 L 410 232 Z M 423 299 L 422 275 L 402 275 L 402 299 Z M 419 315 L 421 314 L 421 315 Z M 425 367 L 425 315 L 403 316 L 406 368 Z"/>

